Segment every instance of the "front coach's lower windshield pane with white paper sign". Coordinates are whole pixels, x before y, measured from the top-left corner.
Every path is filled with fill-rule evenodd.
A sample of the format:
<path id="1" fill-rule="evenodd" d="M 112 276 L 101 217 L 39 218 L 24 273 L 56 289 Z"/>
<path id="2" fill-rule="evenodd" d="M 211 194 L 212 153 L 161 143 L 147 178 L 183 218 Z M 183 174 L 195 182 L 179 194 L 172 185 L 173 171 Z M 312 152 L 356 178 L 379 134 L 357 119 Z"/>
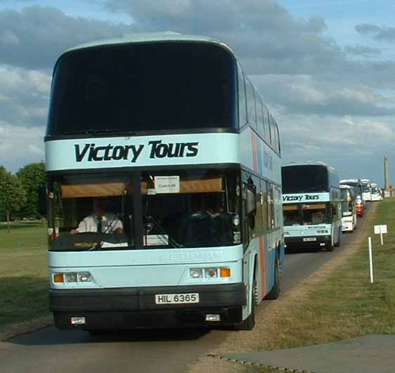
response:
<path id="1" fill-rule="evenodd" d="M 144 246 L 240 244 L 238 183 L 235 171 L 142 173 Z"/>

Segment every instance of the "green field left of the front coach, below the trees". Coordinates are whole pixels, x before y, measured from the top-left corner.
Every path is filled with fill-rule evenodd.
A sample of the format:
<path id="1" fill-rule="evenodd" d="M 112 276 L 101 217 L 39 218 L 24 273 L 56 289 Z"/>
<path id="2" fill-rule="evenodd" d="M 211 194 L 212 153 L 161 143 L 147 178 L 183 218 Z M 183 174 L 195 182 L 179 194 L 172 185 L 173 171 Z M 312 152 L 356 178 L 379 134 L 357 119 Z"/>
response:
<path id="1" fill-rule="evenodd" d="M 0 223 L 0 332 L 48 312 L 46 225 Z M 1 334 L 1 333 L 0 333 Z"/>

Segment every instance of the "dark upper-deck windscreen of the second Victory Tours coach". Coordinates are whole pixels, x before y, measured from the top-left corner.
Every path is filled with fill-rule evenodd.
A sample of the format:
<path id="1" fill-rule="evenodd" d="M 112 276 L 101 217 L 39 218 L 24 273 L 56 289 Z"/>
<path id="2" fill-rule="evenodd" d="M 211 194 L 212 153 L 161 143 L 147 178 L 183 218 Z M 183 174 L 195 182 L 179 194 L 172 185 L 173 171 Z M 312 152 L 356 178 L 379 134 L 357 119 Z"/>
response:
<path id="1" fill-rule="evenodd" d="M 328 192 L 328 169 L 320 165 L 285 166 L 281 169 L 283 194 Z"/>

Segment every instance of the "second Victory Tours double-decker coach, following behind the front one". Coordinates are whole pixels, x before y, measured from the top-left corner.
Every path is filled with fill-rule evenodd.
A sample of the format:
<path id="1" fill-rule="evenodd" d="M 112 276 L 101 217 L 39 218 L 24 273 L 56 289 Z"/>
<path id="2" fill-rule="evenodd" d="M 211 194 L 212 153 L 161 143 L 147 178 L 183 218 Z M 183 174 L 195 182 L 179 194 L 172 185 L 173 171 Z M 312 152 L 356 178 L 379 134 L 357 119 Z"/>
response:
<path id="1" fill-rule="evenodd" d="M 339 246 L 342 204 L 336 170 L 323 162 L 282 167 L 284 235 L 287 247 Z"/>

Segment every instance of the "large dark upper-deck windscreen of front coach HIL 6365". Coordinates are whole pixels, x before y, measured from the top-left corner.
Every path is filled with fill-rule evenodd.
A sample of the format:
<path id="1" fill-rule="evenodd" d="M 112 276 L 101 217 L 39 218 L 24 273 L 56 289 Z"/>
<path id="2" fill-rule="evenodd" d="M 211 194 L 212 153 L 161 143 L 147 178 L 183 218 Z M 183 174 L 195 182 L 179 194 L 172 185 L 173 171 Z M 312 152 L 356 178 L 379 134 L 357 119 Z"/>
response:
<path id="1" fill-rule="evenodd" d="M 235 128 L 235 59 L 213 44 L 121 44 L 65 53 L 47 136 Z"/>

